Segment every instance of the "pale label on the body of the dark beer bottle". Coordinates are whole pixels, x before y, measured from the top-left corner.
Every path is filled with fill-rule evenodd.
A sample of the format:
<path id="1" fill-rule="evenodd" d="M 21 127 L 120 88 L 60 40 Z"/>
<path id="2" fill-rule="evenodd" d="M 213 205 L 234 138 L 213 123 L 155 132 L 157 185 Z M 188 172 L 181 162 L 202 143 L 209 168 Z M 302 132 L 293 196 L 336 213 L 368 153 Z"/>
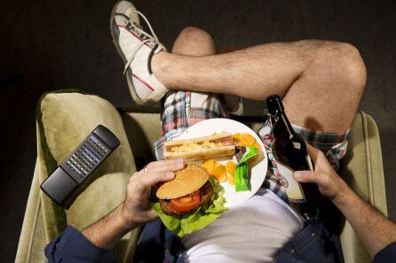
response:
<path id="1" fill-rule="evenodd" d="M 289 202 L 305 203 L 306 199 L 303 188 L 301 187 L 299 182 L 294 180 L 293 169 L 291 169 L 289 166 L 281 164 L 279 161 L 276 162 L 276 166 L 278 166 L 278 171 L 281 174 L 281 185 L 286 189 L 286 194 L 288 195 Z"/>

